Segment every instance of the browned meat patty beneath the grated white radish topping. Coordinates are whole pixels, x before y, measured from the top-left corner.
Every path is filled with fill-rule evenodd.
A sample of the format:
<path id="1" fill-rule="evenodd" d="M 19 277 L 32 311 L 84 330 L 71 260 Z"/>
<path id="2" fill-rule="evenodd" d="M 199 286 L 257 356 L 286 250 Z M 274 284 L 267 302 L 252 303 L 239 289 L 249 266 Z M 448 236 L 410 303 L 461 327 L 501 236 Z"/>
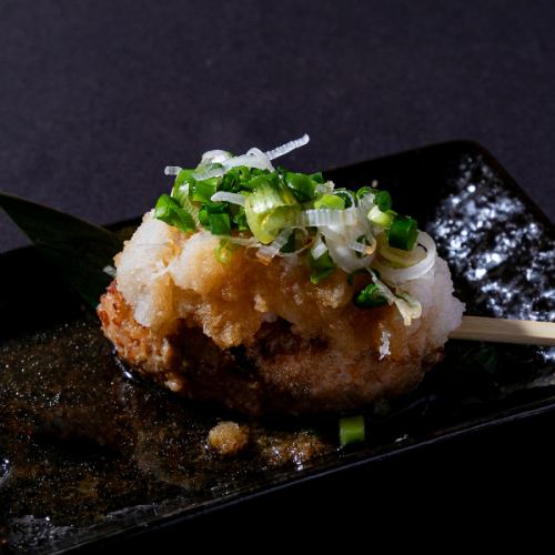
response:
<path id="1" fill-rule="evenodd" d="M 222 350 L 199 327 L 157 335 L 139 324 L 115 282 L 98 314 L 121 360 L 170 390 L 243 413 L 307 414 L 354 410 L 412 390 L 442 350 L 420 357 L 375 350 L 354 355 L 295 335 L 283 320 L 266 323 L 245 346 Z"/>

